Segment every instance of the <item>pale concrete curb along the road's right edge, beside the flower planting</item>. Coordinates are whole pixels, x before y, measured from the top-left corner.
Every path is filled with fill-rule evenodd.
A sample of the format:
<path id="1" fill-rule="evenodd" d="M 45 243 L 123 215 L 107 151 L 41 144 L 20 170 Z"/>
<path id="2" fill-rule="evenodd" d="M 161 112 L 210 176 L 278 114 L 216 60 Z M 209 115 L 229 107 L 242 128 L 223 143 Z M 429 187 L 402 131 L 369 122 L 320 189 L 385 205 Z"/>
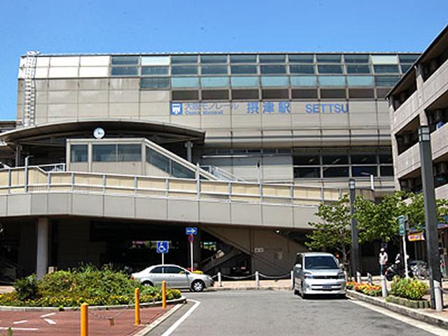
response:
<path id="1" fill-rule="evenodd" d="M 395 313 L 409 316 L 416 320 L 436 325 L 439 328 L 448 330 L 448 318 L 443 318 L 442 316 L 434 316 L 434 313 L 428 313 L 424 309 L 412 309 L 404 307 L 400 304 L 385 302 L 381 299 L 378 299 L 377 297 L 371 297 L 356 293 L 354 290 L 347 290 L 347 296 L 351 297 L 352 299 L 374 304 L 375 306 L 386 308 L 388 310 L 394 311 Z"/>

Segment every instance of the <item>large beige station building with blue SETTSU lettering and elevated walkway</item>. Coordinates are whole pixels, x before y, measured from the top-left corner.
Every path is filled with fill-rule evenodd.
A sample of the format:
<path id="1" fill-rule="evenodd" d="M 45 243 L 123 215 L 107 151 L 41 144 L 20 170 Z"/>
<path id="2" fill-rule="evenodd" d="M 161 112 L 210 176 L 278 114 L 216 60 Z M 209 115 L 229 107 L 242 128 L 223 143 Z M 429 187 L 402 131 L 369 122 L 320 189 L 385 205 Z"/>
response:
<path id="1" fill-rule="evenodd" d="M 188 265 L 197 226 L 200 269 L 286 274 L 349 179 L 372 199 L 394 190 L 384 98 L 417 57 L 28 52 L 1 123 L 2 258 L 38 276 L 138 268 L 169 240 L 165 260 Z"/>

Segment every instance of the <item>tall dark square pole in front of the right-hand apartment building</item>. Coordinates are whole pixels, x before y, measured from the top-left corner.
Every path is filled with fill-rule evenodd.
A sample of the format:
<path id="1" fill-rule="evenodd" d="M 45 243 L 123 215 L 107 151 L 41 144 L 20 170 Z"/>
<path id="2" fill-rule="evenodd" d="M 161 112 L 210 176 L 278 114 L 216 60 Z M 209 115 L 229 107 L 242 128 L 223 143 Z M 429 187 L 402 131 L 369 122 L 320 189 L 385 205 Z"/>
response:
<path id="1" fill-rule="evenodd" d="M 421 183 L 425 202 L 426 250 L 428 254 L 431 307 L 442 310 L 442 274 L 440 274 L 437 210 L 435 204 L 433 158 L 428 126 L 419 128 Z"/>

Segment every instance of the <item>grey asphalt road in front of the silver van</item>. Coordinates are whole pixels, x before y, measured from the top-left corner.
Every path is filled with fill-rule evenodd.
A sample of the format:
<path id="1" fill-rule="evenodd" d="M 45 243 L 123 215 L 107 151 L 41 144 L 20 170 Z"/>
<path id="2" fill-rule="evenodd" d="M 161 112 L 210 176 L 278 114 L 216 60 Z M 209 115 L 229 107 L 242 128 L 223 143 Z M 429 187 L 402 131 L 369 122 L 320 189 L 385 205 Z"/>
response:
<path id="1" fill-rule="evenodd" d="M 273 290 L 185 295 L 201 302 L 197 309 L 172 333 L 167 333 L 167 329 L 193 307 L 194 302 L 190 301 L 148 335 L 434 335 L 351 300 L 302 300 L 290 291 Z"/>

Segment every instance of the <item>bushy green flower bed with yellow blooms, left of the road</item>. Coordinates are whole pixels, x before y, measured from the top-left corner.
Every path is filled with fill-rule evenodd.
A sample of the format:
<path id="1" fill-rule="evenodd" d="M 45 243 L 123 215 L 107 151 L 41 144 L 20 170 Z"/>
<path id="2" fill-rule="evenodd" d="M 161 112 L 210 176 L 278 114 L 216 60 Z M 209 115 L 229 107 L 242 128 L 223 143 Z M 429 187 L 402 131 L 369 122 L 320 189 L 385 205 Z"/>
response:
<path id="1" fill-rule="evenodd" d="M 134 288 L 140 289 L 140 302 L 162 300 L 161 288 L 143 286 L 127 274 L 108 267 L 92 266 L 46 274 L 36 280 L 35 275 L 18 279 L 15 290 L 0 294 L 0 305 L 15 307 L 79 307 L 90 305 L 132 304 Z M 167 289 L 167 300 L 181 297 L 176 289 Z"/>

